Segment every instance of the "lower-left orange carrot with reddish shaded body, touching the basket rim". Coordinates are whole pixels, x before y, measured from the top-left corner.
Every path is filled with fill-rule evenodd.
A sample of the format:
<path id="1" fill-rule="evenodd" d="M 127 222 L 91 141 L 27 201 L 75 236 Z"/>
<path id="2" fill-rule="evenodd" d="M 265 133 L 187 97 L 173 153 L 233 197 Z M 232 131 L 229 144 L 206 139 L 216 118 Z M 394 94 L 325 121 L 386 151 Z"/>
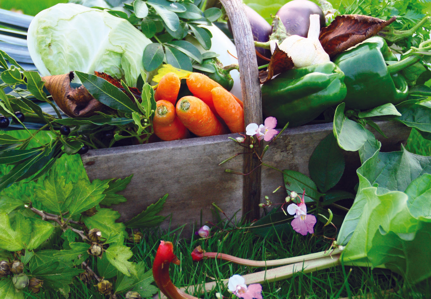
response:
<path id="1" fill-rule="evenodd" d="M 157 101 L 156 104 L 153 119 L 154 134 L 165 141 L 187 138 L 189 132 L 178 119 L 174 105 L 165 100 Z"/>

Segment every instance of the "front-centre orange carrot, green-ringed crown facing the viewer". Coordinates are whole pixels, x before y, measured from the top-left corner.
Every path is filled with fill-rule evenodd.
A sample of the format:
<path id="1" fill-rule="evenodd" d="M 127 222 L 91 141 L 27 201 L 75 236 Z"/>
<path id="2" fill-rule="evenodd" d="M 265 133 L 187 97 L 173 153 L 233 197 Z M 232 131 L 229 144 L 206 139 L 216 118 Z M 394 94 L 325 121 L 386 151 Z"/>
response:
<path id="1" fill-rule="evenodd" d="M 187 129 L 197 136 L 213 136 L 226 133 L 225 128 L 211 112 L 208 105 L 194 96 L 185 96 L 178 100 L 177 116 Z"/>

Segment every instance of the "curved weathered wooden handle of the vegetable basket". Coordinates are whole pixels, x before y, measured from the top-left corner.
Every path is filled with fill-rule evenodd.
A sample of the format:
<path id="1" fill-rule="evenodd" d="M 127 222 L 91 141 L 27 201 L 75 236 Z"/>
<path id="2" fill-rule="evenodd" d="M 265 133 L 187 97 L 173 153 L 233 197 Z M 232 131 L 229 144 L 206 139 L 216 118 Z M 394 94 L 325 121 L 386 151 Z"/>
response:
<path id="1" fill-rule="evenodd" d="M 241 0 L 220 0 L 220 2 L 226 10 L 229 22 L 231 22 L 232 34 L 237 48 L 242 99 L 244 101 L 244 123 L 261 124 L 263 122 L 259 70 L 250 22 Z M 248 141 L 250 141 L 249 137 L 247 137 Z M 248 151 L 244 154 L 243 173 L 250 173 L 259 164 L 260 161 Z M 244 176 L 242 209 L 247 213 L 245 218 L 249 221 L 259 217 L 257 205 L 261 193 L 260 183 L 260 168 L 254 170 L 250 175 Z"/>

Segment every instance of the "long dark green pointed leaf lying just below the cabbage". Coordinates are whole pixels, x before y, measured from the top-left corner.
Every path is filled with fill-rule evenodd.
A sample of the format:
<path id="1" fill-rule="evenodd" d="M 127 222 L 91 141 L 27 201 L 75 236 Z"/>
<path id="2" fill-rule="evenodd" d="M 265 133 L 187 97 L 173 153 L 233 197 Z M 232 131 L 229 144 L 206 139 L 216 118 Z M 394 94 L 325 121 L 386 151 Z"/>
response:
<path id="1" fill-rule="evenodd" d="M 138 112 L 130 98 L 105 79 L 84 72 L 75 71 L 75 74 L 96 100 L 124 113 Z"/>

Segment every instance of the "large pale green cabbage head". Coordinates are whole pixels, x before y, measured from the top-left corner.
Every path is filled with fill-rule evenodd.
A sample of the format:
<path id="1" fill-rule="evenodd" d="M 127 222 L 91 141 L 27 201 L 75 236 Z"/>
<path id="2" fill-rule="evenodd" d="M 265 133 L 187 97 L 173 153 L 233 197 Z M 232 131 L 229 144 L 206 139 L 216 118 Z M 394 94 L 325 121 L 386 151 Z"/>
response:
<path id="1" fill-rule="evenodd" d="M 42 76 L 98 71 L 136 86 L 144 69 L 144 49 L 151 41 L 125 19 L 100 9 L 60 3 L 34 17 L 27 44 Z"/>

